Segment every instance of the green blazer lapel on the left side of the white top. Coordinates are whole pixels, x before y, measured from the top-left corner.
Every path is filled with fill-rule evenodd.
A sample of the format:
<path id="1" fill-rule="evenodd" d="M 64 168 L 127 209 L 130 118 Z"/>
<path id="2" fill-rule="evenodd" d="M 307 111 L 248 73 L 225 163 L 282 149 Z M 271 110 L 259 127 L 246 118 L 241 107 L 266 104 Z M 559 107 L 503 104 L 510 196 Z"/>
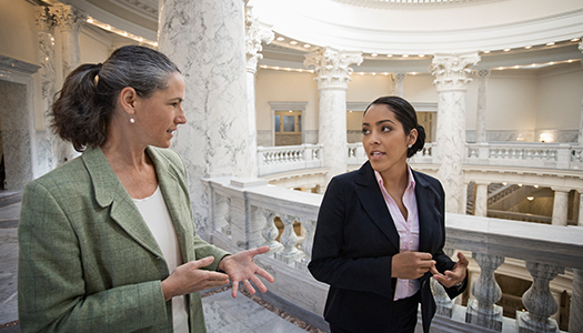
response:
<path id="1" fill-rule="evenodd" d="M 82 154 L 91 176 L 96 201 L 101 208 L 110 208 L 110 216 L 143 248 L 162 258 L 152 232 L 142 219 L 130 194 L 119 181 L 101 148 L 88 148 Z"/>

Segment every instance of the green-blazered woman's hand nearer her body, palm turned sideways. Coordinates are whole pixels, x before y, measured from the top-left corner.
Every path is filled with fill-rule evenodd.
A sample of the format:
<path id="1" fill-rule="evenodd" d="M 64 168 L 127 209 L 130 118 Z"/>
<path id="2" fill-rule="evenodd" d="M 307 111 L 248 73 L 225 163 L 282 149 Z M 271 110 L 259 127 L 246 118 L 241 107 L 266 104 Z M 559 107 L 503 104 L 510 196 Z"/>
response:
<path id="1" fill-rule="evenodd" d="M 201 268 L 210 265 L 213 261 L 214 258 L 207 256 L 178 266 L 170 276 L 162 281 L 164 300 L 169 301 L 173 296 L 228 284 L 229 275 L 201 270 Z"/>

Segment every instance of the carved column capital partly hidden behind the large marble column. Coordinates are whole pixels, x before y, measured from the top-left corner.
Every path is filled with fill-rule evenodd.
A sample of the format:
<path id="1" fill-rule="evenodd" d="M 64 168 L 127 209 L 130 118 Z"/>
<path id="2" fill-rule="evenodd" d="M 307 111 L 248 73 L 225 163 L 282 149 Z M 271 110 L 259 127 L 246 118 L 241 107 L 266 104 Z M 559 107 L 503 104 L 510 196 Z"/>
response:
<path id="1" fill-rule="evenodd" d="M 263 50 L 262 42 L 271 43 L 275 38 L 272 26 L 263 24 L 253 16 L 253 6 L 245 7 L 245 54 L 247 70 L 254 73 L 258 61 L 263 59 L 260 52 Z"/>

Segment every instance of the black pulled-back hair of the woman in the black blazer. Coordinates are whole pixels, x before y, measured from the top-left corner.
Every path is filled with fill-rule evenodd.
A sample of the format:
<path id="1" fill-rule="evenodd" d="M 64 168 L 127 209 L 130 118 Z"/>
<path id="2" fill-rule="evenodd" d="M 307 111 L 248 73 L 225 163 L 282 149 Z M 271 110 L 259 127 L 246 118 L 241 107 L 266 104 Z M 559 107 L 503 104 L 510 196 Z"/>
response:
<path id="1" fill-rule="evenodd" d="M 366 114 L 370 107 L 375 104 L 386 105 L 389 110 L 393 111 L 396 120 L 403 125 L 405 134 L 409 134 L 412 129 L 418 130 L 418 140 L 410 149 L 408 149 L 408 158 L 411 158 L 418 151 L 423 149 L 423 145 L 425 144 L 425 129 L 418 123 L 418 114 L 413 105 L 398 95 L 385 95 L 378 98 L 370 103 L 369 107 L 366 107 L 366 110 L 364 110 L 364 114 Z"/>

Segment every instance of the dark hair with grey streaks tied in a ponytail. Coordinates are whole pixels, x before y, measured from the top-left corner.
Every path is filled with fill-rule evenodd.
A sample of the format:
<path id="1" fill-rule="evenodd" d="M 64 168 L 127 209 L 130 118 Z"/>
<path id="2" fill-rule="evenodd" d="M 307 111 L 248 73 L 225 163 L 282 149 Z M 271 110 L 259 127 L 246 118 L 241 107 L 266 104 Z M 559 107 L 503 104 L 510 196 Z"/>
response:
<path id="1" fill-rule="evenodd" d="M 81 64 L 64 80 L 52 105 L 51 128 L 77 151 L 98 147 L 107 138 L 107 123 L 125 87 L 148 98 L 167 88 L 168 78 L 180 72 L 164 54 L 137 46 L 113 51 L 103 64 Z"/>

